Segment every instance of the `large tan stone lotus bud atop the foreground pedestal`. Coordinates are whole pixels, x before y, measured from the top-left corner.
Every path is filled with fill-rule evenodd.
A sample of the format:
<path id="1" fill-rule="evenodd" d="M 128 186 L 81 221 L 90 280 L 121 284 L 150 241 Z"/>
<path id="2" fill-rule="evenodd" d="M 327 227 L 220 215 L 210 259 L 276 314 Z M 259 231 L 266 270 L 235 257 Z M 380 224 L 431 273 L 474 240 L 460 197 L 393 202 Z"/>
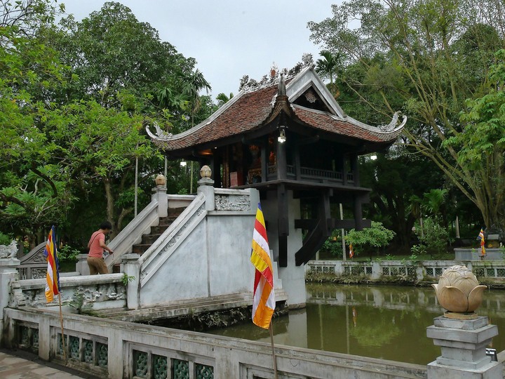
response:
<path id="1" fill-rule="evenodd" d="M 482 302 L 487 286 L 479 286 L 475 275 L 465 266 L 449 267 L 440 276 L 438 284 L 431 284 L 440 305 L 449 312 L 469 313 Z"/>

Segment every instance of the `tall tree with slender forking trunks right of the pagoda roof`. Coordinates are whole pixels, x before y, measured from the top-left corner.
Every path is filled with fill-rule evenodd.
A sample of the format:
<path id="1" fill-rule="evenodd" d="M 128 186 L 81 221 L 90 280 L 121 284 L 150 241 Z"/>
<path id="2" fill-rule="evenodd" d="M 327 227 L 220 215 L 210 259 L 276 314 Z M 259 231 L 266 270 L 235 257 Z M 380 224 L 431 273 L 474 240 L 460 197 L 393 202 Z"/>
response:
<path id="1" fill-rule="evenodd" d="M 504 46 L 504 4 L 351 0 L 332 12 L 332 18 L 309 22 L 311 39 L 346 54 L 351 64 L 341 80 L 368 107 L 369 120 L 402 109 L 410 117 L 403 142 L 431 159 L 479 208 L 486 225 L 503 227 L 494 212 L 504 206 L 494 196 L 502 176 L 490 182 L 492 200 L 483 193 L 482 178 L 497 166 L 484 160 L 480 166 L 462 165 L 457 141 L 468 135 L 469 121 L 459 118 L 465 100 L 481 98 L 494 86 L 487 72 L 499 63 L 494 52 Z M 357 28 L 351 22 L 356 19 Z M 445 142 L 451 138 L 455 145 Z"/>

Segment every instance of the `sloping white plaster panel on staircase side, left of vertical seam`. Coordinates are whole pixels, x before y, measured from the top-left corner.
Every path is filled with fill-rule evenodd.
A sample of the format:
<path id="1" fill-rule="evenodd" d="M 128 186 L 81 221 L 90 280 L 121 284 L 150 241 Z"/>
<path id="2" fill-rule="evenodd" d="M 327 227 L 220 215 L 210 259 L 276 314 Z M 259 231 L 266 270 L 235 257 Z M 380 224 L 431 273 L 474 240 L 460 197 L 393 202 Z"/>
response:
<path id="1" fill-rule="evenodd" d="M 140 289 L 141 306 L 208 297 L 205 236 L 206 222 L 202 221 Z"/>

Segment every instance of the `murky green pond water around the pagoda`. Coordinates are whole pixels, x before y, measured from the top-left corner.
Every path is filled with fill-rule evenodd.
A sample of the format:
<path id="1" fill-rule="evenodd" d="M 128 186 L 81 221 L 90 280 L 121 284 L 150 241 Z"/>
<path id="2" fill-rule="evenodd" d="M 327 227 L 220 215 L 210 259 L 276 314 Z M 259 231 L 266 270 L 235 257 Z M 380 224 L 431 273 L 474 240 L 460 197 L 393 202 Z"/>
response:
<path id="1" fill-rule="evenodd" d="M 431 287 L 307 284 L 307 307 L 274 319 L 274 343 L 428 364 L 440 347 L 426 327 L 443 314 Z M 492 347 L 505 350 L 505 291 L 484 294 L 478 314 L 498 326 Z M 217 335 L 270 342 L 269 332 L 252 323 L 208 331 Z"/>

